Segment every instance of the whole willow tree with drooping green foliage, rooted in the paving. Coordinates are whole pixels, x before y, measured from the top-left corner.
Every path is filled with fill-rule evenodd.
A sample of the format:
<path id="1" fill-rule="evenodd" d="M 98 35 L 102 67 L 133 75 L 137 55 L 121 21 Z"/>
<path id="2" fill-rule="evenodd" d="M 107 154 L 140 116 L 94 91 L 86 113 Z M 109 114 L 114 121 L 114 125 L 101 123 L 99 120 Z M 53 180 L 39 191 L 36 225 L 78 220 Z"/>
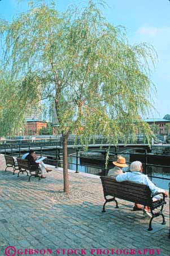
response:
<path id="1" fill-rule="evenodd" d="M 54 2 L 33 1 L 27 12 L 2 28 L 5 63 L 14 79 L 27 81 L 20 86 L 21 97 L 29 99 L 33 92 L 36 98 L 38 86 L 45 102 L 55 100 L 63 137 L 64 191 L 69 191 L 69 134 L 79 135 L 84 144 L 103 135 L 116 145 L 118 137 L 126 142 L 137 131 L 149 138 L 149 125 L 140 116 L 151 107 L 154 49 L 130 45 L 125 29 L 108 23 L 93 1 L 64 14 Z"/>

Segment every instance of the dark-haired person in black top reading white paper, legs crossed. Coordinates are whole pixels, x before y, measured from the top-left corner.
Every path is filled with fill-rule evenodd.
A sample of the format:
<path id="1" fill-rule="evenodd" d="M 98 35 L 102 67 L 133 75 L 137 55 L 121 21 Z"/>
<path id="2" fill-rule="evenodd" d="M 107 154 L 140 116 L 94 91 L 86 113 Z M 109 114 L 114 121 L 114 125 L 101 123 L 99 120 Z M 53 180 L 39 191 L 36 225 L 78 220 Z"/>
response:
<path id="1" fill-rule="evenodd" d="M 23 155 L 24 156 L 24 155 Z M 26 160 L 28 160 L 28 162 L 30 163 L 30 165 L 34 165 L 34 166 L 40 166 L 41 169 L 41 178 L 46 178 L 45 174 L 46 171 L 52 171 L 51 169 L 48 169 L 45 165 L 45 163 L 43 163 L 42 161 L 40 163 L 36 163 L 36 154 L 34 152 L 34 150 L 30 149 L 29 150 L 29 154 L 27 154 L 27 156 L 25 157 Z"/>

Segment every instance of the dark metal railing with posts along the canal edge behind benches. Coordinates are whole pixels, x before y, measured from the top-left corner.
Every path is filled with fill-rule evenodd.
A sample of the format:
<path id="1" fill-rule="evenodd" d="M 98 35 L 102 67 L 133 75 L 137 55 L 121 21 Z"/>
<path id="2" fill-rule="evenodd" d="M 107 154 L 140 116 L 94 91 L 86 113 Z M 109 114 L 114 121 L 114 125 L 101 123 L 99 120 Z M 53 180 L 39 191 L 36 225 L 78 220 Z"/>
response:
<path id="1" fill-rule="evenodd" d="M 60 147 L 60 142 L 59 142 L 59 145 L 57 142 L 55 142 L 55 146 L 51 145 L 51 146 L 44 146 L 44 145 L 29 145 L 29 144 L 25 144 L 24 147 L 23 145 L 16 145 L 16 144 L 10 144 L 10 145 L 5 145 L 5 147 L 3 148 L 4 150 L 4 153 L 5 154 L 9 154 L 10 156 L 15 156 L 15 157 L 21 157 L 21 154 L 25 153 L 25 152 L 28 152 L 30 149 L 33 149 L 36 151 L 36 154 L 37 155 L 40 155 L 40 156 L 46 156 L 50 161 L 51 163 L 54 163 L 53 165 L 55 167 L 58 167 L 59 165 L 61 166 L 63 164 L 63 160 L 62 160 L 62 153 L 61 153 L 61 150 L 62 150 L 62 147 Z M 50 152 L 50 150 L 53 150 L 53 152 Z M 133 153 L 134 150 L 140 150 L 140 151 L 143 151 L 143 154 L 142 153 Z M 86 166 L 86 167 L 91 167 L 91 168 L 94 168 L 94 169 L 100 169 L 100 170 L 103 170 L 103 173 L 104 175 L 107 175 L 107 171 L 109 170 L 107 165 L 105 165 L 105 162 L 106 162 L 106 158 L 107 158 L 107 153 L 108 153 L 108 150 L 107 149 L 104 149 L 104 150 L 88 150 L 88 152 L 96 152 L 96 153 L 102 153 L 103 154 L 103 160 L 99 160 L 99 158 L 94 158 L 93 157 L 93 160 L 97 160 L 97 161 L 103 161 L 103 166 L 97 166 L 97 165 L 91 165 L 89 163 L 87 164 L 81 164 L 79 163 L 79 154 L 80 152 L 84 152 L 82 147 L 75 147 L 75 153 L 71 154 L 71 155 L 68 155 L 69 158 L 76 158 L 75 162 L 69 162 L 69 164 L 71 165 L 75 165 L 76 166 L 76 173 L 79 173 L 79 166 Z M 115 148 L 115 151 L 114 152 L 109 152 L 110 154 L 112 154 L 112 156 L 117 156 L 119 154 L 121 154 L 122 156 L 124 155 L 130 155 L 130 156 L 133 156 L 133 155 L 137 155 L 137 154 L 140 154 L 144 157 L 144 161 L 142 162 L 143 164 L 143 167 L 144 167 L 144 171 L 143 173 L 147 174 L 151 179 L 152 178 L 156 178 L 156 179 L 164 179 L 164 180 L 168 180 L 170 181 L 170 176 L 169 178 L 165 178 L 165 177 L 160 177 L 160 176 L 155 176 L 155 175 L 150 175 L 148 173 L 148 167 L 164 167 L 164 168 L 170 168 L 170 156 L 167 156 L 167 155 L 158 155 L 156 154 L 157 157 L 161 156 L 161 157 L 169 157 L 169 166 L 167 165 L 155 165 L 154 163 L 148 163 L 148 157 L 151 156 L 149 153 L 147 153 L 147 150 L 146 149 L 139 149 L 139 148 L 133 148 L 133 149 L 128 149 L 128 152 L 119 152 L 119 151 L 116 151 L 116 148 Z M 131 163 L 130 161 L 127 162 L 127 163 Z M 102 163 L 101 163 L 102 165 Z M 170 170 L 170 169 L 169 169 Z"/>

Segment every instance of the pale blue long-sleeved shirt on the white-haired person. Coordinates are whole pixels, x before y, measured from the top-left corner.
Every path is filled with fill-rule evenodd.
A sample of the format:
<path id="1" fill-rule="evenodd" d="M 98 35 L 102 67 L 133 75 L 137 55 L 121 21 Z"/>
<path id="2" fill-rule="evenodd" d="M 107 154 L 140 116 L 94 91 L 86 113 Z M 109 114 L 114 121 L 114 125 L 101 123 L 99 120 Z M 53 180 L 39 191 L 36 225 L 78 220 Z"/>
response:
<path id="1" fill-rule="evenodd" d="M 133 181 L 140 184 L 145 184 L 149 186 L 152 195 L 159 192 L 164 192 L 162 188 L 156 187 L 154 183 L 150 181 L 150 179 L 147 177 L 147 175 L 140 173 L 140 171 L 133 171 L 132 173 L 125 173 L 117 175 L 116 177 L 117 182 L 123 182 L 123 181 Z"/>

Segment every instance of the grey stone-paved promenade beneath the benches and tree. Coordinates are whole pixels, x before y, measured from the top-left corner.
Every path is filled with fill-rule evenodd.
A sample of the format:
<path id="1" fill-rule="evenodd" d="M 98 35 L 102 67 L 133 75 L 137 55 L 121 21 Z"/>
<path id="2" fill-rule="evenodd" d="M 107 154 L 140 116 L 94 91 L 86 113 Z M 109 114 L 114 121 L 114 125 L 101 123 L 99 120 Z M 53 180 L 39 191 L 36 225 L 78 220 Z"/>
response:
<path id="1" fill-rule="evenodd" d="M 132 212 L 132 203 L 118 200 L 119 209 L 108 203 L 106 213 L 101 213 L 104 198 L 99 177 L 70 172 L 67 196 L 62 169 L 41 181 L 32 177 L 31 182 L 25 174 L 18 178 L 4 170 L 1 155 L 0 256 L 7 246 L 13 246 L 6 249 L 8 256 L 76 255 L 76 249 L 87 256 L 170 255 L 168 204 L 164 211 L 167 225 L 161 225 L 162 217 L 158 217 L 148 232 L 149 219 Z"/>

